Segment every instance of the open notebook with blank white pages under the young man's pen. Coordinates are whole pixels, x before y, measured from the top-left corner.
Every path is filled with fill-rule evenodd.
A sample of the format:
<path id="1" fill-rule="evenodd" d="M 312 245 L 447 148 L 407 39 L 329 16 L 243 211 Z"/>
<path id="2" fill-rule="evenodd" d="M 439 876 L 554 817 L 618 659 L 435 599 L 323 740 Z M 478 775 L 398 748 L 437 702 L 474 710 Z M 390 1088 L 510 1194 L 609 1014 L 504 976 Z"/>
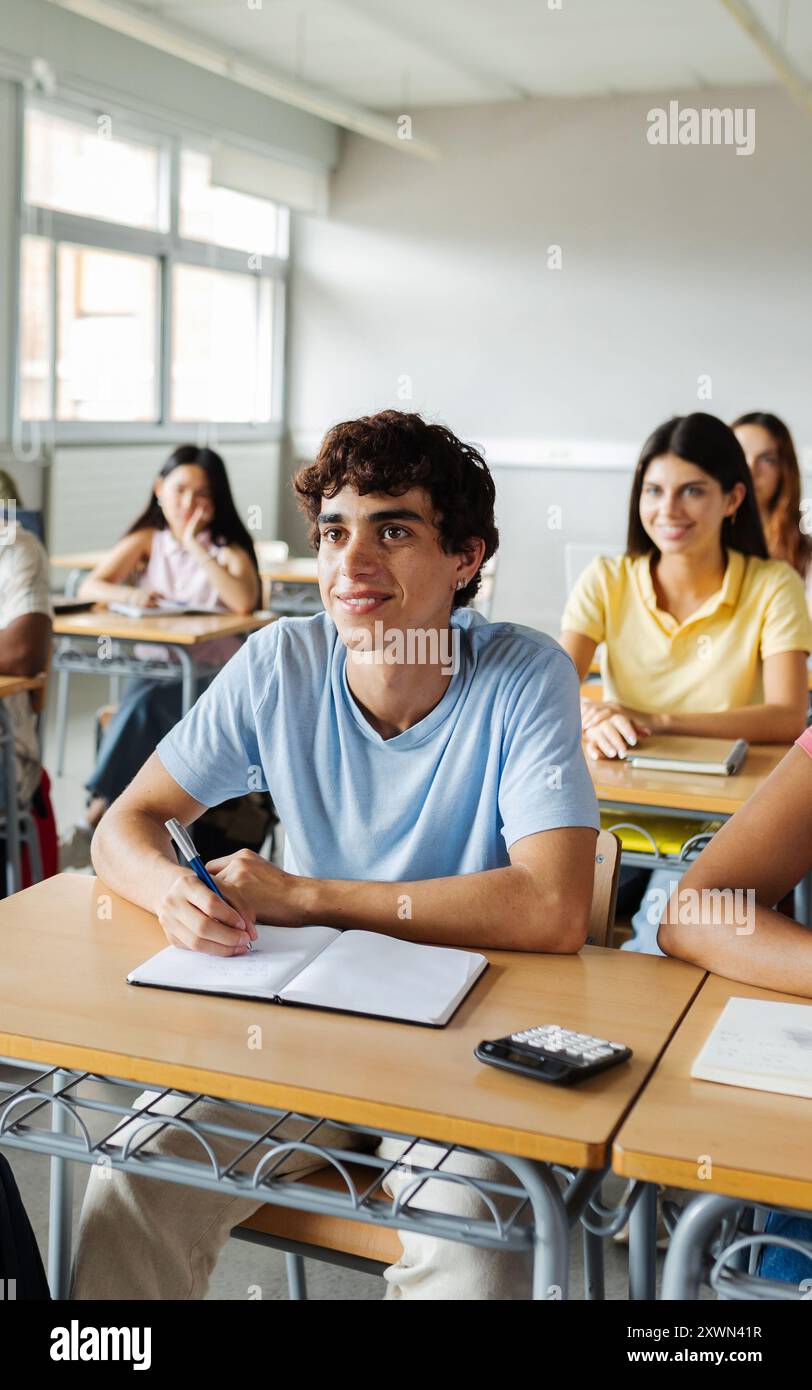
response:
<path id="1" fill-rule="evenodd" d="M 249 955 L 222 958 L 165 947 L 127 979 L 163 990 L 234 994 L 442 1027 L 488 965 L 474 951 L 421 947 L 375 931 L 257 931 Z"/>

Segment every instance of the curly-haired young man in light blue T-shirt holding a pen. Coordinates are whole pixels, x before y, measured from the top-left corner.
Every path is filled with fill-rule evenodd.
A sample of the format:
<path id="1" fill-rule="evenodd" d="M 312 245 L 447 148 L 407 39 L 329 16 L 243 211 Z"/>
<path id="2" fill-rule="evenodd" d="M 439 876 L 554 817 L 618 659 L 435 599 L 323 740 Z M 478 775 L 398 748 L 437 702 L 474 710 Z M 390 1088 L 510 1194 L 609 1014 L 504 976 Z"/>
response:
<path id="1" fill-rule="evenodd" d="M 154 912 L 170 942 L 217 956 L 245 952 L 256 922 L 578 951 L 598 827 L 578 681 L 552 638 L 469 607 L 498 543 L 482 457 L 442 425 L 385 410 L 334 427 L 295 486 L 325 612 L 247 639 L 110 808 L 96 870 Z M 285 827 L 285 869 L 246 851 L 213 860 L 228 906 L 178 867 L 164 821 L 190 824 L 257 773 Z M 228 1123 L 227 1106 L 214 1113 Z M 184 1138 L 170 1129 L 154 1143 L 177 1151 Z M 405 1147 L 378 1144 L 393 1159 Z M 439 1152 L 428 1145 L 425 1161 Z M 289 1170 L 311 1162 L 293 1156 Z M 485 1156 L 444 1168 L 505 1180 Z M 393 1168 L 384 1186 L 403 1182 Z M 419 1202 L 485 1213 L 459 1183 L 428 1182 Z M 120 1172 L 90 1182 L 74 1295 L 200 1298 L 231 1227 L 257 1205 Z M 528 1297 L 521 1254 L 402 1241 L 389 1298 Z"/>

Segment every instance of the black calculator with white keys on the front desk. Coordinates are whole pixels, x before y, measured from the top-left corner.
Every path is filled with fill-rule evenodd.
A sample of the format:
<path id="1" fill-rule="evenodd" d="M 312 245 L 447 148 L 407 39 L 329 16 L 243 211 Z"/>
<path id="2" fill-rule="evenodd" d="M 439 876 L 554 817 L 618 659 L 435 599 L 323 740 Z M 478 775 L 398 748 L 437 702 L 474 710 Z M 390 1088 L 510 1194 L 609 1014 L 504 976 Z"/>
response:
<path id="1" fill-rule="evenodd" d="M 627 1062 L 631 1048 L 623 1042 L 610 1042 L 609 1038 L 592 1037 L 591 1033 L 562 1029 L 558 1023 L 545 1023 L 538 1029 L 510 1033 L 505 1038 L 485 1040 L 474 1048 L 474 1056 L 491 1066 L 531 1076 L 535 1081 L 573 1086 L 617 1062 Z"/>

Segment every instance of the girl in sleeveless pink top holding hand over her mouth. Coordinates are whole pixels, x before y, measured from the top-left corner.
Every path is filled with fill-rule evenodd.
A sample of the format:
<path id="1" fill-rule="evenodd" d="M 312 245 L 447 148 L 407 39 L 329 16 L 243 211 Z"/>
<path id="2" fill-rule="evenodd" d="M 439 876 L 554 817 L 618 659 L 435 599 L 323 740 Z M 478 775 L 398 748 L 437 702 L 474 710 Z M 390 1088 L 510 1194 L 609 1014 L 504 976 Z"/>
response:
<path id="1" fill-rule="evenodd" d="M 82 582 L 78 596 L 97 603 L 156 607 L 172 599 L 195 607 L 252 613 L 260 578 L 250 535 L 234 505 L 225 464 L 213 449 L 181 445 L 154 481 L 150 499 L 127 535 Z M 236 651 L 236 637 L 197 646 L 195 660 L 210 667 L 197 678 L 197 694 Z M 156 659 L 165 648 L 139 651 Z M 60 840 L 60 869 L 90 863 L 90 838 L 111 801 L 124 791 L 159 738 L 181 716 L 181 678 L 129 682 L 104 731 L 96 767 L 85 784 L 90 803 L 85 819 Z"/>

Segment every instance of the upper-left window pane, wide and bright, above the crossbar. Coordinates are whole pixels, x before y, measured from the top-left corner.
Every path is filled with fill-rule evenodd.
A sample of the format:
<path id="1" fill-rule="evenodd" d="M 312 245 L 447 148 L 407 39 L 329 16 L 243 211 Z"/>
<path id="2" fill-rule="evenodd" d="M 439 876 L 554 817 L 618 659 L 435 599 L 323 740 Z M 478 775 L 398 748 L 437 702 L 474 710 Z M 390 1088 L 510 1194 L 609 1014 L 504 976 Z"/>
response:
<path id="1" fill-rule="evenodd" d="M 110 126 L 107 122 L 110 121 Z M 115 136 L 115 121 L 83 125 L 25 113 L 25 200 L 78 217 L 161 231 L 160 150 Z"/>

